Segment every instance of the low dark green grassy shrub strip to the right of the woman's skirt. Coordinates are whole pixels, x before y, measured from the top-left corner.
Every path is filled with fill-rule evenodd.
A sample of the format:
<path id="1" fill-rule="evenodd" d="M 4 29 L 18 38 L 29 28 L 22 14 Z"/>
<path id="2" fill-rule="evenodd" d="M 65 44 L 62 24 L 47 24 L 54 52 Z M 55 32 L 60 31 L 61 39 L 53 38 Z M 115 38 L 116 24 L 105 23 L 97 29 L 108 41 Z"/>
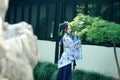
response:
<path id="1" fill-rule="evenodd" d="M 112 77 L 108 77 L 97 72 L 74 70 L 72 80 L 114 80 L 114 79 Z"/>

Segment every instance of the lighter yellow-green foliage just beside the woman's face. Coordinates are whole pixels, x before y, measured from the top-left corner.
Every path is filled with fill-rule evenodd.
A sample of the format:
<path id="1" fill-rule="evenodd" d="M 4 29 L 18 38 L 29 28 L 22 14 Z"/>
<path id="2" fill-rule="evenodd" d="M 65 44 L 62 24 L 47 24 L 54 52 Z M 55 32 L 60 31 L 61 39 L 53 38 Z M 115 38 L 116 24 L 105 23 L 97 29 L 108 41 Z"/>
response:
<path id="1" fill-rule="evenodd" d="M 78 14 L 72 22 L 70 22 L 73 32 L 77 31 L 78 36 L 83 39 L 86 33 L 93 24 L 93 22 L 99 20 L 99 17 L 92 18 L 89 15 L 85 16 L 83 14 Z"/>

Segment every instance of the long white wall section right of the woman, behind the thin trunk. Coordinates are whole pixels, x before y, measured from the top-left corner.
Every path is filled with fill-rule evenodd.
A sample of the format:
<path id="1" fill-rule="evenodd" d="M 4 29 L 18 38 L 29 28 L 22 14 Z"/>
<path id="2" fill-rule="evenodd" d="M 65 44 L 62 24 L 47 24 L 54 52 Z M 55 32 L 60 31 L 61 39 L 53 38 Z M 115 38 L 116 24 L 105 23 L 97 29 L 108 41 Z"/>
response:
<path id="1" fill-rule="evenodd" d="M 82 45 L 83 59 L 77 61 L 76 68 L 103 73 L 118 78 L 117 66 L 112 47 Z M 120 48 L 117 54 L 120 64 Z"/>

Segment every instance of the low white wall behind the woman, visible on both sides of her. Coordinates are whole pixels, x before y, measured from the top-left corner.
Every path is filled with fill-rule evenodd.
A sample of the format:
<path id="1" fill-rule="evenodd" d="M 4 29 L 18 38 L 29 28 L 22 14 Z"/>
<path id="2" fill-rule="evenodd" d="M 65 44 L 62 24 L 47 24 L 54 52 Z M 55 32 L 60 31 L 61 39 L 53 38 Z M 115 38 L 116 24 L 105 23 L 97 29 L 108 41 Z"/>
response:
<path id="1" fill-rule="evenodd" d="M 54 63 L 55 42 L 38 41 L 39 60 Z M 77 61 L 77 69 L 95 71 L 118 78 L 116 62 L 112 47 L 82 45 L 83 59 Z M 120 48 L 117 48 L 120 64 Z"/>

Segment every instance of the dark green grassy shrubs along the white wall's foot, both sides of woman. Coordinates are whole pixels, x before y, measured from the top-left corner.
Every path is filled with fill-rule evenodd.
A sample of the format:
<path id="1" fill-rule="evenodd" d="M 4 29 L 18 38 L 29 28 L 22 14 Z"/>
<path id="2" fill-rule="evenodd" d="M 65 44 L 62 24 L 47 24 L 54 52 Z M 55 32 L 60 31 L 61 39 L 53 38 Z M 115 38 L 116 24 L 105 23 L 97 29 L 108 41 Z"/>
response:
<path id="1" fill-rule="evenodd" d="M 55 80 L 57 75 L 57 66 L 49 62 L 39 62 L 34 68 L 33 74 L 35 80 Z M 72 80 L 115 80 L 96 72 L 85 70 L 73 70 Z"/>

